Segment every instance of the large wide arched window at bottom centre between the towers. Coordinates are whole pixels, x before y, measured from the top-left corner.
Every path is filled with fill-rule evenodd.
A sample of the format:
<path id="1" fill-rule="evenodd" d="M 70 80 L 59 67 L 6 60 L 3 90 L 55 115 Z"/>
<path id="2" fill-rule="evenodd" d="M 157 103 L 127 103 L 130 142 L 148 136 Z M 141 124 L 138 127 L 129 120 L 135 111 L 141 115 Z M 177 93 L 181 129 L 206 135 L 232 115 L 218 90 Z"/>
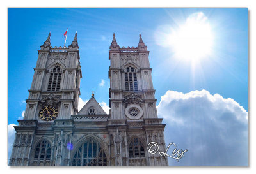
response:
<path id="1" fill-rule="evenodd" d="M 100 143 L 86 140 L 74 154 L 72 166 L 107 166 L 108 159 Z"/>

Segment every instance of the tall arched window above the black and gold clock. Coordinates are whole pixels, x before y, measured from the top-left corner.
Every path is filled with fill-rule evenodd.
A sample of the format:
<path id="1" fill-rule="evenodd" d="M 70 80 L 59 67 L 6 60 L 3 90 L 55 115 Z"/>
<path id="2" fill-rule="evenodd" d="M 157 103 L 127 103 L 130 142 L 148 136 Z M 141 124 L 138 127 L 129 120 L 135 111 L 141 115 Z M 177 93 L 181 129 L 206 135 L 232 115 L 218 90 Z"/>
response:
<path id="1" fill-rule="evenodd" d="M 61 74 L 62 73 L 60 66 L 55 66 L 52 69 L 50 73 L 47 91 L 60 91 Z"/>

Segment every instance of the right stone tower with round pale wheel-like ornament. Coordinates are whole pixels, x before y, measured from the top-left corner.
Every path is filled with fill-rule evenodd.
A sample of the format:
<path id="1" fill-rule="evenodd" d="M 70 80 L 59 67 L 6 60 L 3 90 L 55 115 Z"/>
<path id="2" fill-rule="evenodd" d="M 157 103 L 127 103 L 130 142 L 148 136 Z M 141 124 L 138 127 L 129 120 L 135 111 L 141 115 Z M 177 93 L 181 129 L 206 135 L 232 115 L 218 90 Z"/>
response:
<path id="1" fill-rule="evenodd" d="M 140 34 L 138 47 L 119 47 L 115 33 L 109 50 L 110 137 L 123 137 L 110 143 L 112 165 L 166 166 L 167 157 L 149 154 L 154 141 L 165 152 L 163 119 L 157 117 L 149 51 Z M 115 138 L 114 138 L 115 140 Z M 118 147 L 120 145 L 120 148 Z"/>

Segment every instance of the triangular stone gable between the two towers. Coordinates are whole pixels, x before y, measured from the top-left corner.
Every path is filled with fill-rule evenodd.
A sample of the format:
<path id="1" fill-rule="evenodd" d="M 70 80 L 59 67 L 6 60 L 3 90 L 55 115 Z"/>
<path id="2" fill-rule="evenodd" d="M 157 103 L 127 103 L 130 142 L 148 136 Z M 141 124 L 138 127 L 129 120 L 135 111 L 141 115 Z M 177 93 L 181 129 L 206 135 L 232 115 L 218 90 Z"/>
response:
<path id="1" fill-rule="evenodd" d="M 77 113 L 77 115 L 88 115 L 88 110 L 90 108 L 95 109 L 95 115 L 107 115 L 106 112 L 102 109 L 96 99 L 92 96 L 92 98 L 81 108 L 81 110 Z"/>

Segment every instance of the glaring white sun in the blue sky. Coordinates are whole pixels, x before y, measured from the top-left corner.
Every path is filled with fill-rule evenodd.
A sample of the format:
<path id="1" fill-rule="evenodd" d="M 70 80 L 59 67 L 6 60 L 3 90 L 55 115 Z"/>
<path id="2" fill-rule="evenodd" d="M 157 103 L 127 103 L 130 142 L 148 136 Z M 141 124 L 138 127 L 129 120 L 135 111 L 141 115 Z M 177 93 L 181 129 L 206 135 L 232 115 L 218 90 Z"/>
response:
<path id="1" fill-rule="evenodd" d="M 212 53 L 211 25 L 202 12 L 190 15 L 185 24 L 180 25 L 178 29 L 172 29 L 166 39 L 179 59 L 198 60 Z"/>

